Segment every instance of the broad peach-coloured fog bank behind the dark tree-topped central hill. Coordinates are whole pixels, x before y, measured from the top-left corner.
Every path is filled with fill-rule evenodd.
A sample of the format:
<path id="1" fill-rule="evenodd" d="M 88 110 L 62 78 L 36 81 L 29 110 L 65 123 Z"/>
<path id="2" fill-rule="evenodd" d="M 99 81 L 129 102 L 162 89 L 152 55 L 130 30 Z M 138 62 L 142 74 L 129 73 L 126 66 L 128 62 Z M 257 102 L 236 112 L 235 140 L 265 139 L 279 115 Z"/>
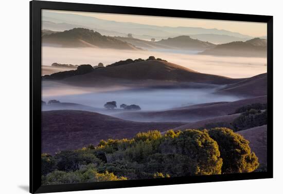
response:
<path id="1" fill-rule="evenodd" d="M 52 63 L 108 65 L 126 59 L 147 59 L 154 55 L 168 62 L 182 65 L 202 73 L 223 75 L 232 78 L 251 77 L 267 72 L 267 59 L 259 57 L 209 56 L 180 53 L 180 50 L 131 51 L 98 48 L 42 47 L 42 65 Z"/>

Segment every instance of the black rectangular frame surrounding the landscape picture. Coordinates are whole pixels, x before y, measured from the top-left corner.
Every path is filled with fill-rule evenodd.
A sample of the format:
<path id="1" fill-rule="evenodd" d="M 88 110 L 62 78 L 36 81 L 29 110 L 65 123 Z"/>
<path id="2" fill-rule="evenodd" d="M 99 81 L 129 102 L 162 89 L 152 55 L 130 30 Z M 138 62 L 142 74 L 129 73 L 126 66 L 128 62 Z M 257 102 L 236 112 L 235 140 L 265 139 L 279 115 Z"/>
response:
<path id="1" fill-rule="evenodd" d="M 132 15 L 202 18 L 267 23 L 268 131 L 267 171 L 211 176 L 127 180 L 63 185 L 41 185 L 41 10 L 68 10 Z M 30 2 L 30 192 L 60 192 L 153 185 L 273 178 L 273 16 L 62 2 Z"/>

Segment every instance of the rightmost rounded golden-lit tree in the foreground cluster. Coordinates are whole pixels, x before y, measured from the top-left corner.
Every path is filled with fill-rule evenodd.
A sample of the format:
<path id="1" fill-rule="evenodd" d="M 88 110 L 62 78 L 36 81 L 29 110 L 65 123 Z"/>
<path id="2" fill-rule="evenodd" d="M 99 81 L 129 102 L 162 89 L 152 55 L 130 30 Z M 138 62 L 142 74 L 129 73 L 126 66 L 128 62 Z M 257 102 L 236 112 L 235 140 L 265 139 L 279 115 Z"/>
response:
<path id="1" fill-rule="evenodd" d="M 214 139 L 223 159 L 222 173 L 252 172 L 259 163 L 254 152 L 251 152 L 249 141 L 228 128 L 215 128 L 208 131 Z"/>

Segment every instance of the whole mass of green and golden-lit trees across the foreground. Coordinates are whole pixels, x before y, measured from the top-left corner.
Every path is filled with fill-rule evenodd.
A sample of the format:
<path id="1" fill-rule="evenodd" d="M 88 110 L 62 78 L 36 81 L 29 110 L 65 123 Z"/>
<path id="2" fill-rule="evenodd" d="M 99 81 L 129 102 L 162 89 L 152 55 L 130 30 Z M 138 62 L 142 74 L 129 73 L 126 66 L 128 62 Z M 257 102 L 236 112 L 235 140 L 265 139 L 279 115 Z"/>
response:
<path id="1" fill-rule="evenodd" d="M 139 132 L 131 140 L 42 155 L 42 183 L 81 183 L 251 172 L 249 142 L 231 129 Z"/>

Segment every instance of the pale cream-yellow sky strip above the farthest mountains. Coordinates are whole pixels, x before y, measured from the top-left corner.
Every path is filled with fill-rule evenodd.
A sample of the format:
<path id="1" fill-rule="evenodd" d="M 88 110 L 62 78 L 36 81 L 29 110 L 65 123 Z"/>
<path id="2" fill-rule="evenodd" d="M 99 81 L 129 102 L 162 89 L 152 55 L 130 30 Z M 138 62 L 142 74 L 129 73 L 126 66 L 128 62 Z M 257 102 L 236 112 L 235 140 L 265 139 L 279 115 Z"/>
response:
<path id="1" fill-rule="evenodd" d="M 48 11 L 52 11 L 52 10 L 48 10 Z M 192 18 L 176 18 L 176 17 L 172 18 L 172 17 L 160 17 L 160 16 L 93 13 L 93 12 L 79 12 L 79 11 L 53 11 L 53 12 L 72 13 L 77 15 L 91 16 L 103 20 L 110 20 L 116 22 L 132 22 L 138 24 L 170 26 L 170 27 L 184 26 L 184 27 L 217 28 L 219 30 L 222 29 L 229 30 L 229 31 L 239 32 L 241 34 L 257 36 L 257 37 L 267 35 L 267 24 L 257 23 L 257 22 L 203 20 L 203 19 L 192 19 Z"/>

